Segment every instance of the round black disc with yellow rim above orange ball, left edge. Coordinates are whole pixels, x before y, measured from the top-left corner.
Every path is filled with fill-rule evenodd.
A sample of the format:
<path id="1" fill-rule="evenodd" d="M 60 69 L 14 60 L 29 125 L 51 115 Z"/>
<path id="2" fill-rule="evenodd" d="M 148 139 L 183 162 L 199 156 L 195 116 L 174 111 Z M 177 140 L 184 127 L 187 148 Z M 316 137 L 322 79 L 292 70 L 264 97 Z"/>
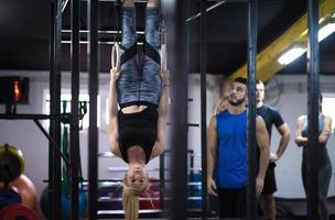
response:
<path id="1" fill-rule="evenodd" d="M 11 182 L 24 173 L 24 157 L 20 150 L 0 145 L 0 182 Z"/>

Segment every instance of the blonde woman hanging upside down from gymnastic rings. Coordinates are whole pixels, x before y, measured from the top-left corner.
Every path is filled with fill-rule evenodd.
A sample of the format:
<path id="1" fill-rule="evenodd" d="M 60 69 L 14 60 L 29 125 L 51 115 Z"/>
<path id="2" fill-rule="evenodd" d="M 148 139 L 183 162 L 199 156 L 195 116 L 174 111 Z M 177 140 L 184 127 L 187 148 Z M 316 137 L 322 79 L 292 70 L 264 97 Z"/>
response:
<path id="1" fill-rule="evenodd" d="M 168 72 L 161 69 L 159 18 L 159 0 L 148 0 L 144 56 L 138 64 L 134 3 L 123 1 L 120 70 L 110 70 L 109 146 L 129 164 L 122 201 L 127 220 L 138 219 L 138 197 L 149 189 L 145 164 L 165 148 Z"/>

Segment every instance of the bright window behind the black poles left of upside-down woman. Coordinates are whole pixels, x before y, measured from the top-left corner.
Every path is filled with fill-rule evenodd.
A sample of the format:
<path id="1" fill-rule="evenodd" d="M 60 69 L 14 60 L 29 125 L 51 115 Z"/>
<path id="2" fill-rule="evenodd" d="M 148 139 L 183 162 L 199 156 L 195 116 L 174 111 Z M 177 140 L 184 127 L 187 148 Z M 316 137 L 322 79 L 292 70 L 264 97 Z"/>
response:
<path id="1" fill-rule="evenodd" d="M 46 114 L 50 114 L 50 92 L 46 91 L 45 92 L 45 113 Z M 97 125 L 98 128 L 100 127 L 100 97 L 98 96 L 97 98 L 97 102 L 98 102 L 98 108 L 97 108 Z M 66 105 L 66 112 L 71 112 L 71 94 L 62 94 L 61 95 L 61 100 L 62 101 L 67 101 L 67 105 Z M 61 112 L 63 111 L 63 103 L 61 101 Z M 79 95 L 79 101 L 87 101 L 87 113 L 84 116 L 84 119 L 83 119 L 83 128 L 84 129 L 87 129 L 88 125 L 89 125 L 89 96 L 87 94 L 80 94 Z M 48 127 L 48 120 L 45 121 L 45 125 Z"/>

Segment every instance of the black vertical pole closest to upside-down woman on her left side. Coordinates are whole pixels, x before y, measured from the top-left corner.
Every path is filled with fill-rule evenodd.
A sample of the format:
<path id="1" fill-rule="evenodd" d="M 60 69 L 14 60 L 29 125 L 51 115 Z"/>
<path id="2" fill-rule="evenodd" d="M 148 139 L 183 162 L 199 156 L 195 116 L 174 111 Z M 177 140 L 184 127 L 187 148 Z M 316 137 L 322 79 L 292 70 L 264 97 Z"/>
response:
<path id="1" fill-rule="evenodd" d="M 88 13 L 88 74 L 89 74 L 89 129 L 88 129 L 88 219 L 97 219 L 98 178 L 98 0 L 89 0 Z"/>

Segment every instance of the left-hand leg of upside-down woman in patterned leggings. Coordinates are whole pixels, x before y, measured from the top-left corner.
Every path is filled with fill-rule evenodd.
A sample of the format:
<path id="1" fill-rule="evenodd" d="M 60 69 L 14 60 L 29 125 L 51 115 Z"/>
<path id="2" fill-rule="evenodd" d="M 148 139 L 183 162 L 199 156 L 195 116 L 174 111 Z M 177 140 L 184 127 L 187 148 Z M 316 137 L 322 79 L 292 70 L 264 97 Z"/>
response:
<path id="1" fill-rule="evenodd" d="M 123 105 L 139 99 L 139 72 L 137 65 L 137 30 L 133 0 L 123 1 L 121 75 L 118 81 L 118 99 Z"/>

